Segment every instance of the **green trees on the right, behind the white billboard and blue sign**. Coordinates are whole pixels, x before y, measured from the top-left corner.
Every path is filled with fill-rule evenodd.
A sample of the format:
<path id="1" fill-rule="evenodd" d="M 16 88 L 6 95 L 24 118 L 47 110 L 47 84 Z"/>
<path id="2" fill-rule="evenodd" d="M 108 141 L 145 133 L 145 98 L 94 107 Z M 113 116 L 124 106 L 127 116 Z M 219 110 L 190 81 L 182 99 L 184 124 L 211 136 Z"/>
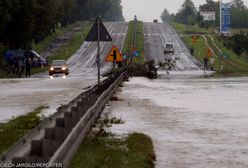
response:
<path id="1" fill-rule="evenodd" d="M 203 26 L 219 26 L 220 6 L 219 2 L 206 0 L 206 3 L 196 9 L 192 0 L 185 0 L 181 9 L 176 14 L 169 14 L 165 9 L 161 15 L 163 21 L 173 20 L 187 25 L 199 24 Z M 204 22 L 201 12 L 215 11 L 216 20 L 213 22 Z M 231 26 L 232 28 L 248 28 L 248 8 L 242 0 L 233 0 L 231 3 Z"/>

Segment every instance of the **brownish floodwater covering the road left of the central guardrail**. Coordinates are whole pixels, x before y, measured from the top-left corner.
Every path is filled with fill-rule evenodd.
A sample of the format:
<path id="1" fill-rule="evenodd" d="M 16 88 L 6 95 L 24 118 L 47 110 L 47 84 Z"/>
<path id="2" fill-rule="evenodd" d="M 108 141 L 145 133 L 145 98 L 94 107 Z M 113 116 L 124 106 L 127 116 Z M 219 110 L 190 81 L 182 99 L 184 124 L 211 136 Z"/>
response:
<path id="1" fill-rule="evenodd" d="M 48 107 L 42 114 L 49 116 L 96 81 L 95 77 L 88 77 L 86 80 L 80 77 L 57 76 L 50 79 L 48 74 L 45 75 L 46 78 L 0 80 L 0 123 L 24 115 L 40 106 Z"/>

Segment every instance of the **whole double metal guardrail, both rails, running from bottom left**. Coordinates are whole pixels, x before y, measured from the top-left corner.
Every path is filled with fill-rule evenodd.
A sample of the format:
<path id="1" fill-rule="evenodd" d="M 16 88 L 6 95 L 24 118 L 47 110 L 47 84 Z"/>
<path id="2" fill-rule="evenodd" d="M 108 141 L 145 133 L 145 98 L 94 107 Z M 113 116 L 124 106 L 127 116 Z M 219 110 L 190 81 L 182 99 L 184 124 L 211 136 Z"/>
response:
<path id="1" fill-rule="evenodd" d="M 125 75 L 111 75 L 59 108 L 4 153 L 0 163 L 63 163 L 67 167 Z"/>

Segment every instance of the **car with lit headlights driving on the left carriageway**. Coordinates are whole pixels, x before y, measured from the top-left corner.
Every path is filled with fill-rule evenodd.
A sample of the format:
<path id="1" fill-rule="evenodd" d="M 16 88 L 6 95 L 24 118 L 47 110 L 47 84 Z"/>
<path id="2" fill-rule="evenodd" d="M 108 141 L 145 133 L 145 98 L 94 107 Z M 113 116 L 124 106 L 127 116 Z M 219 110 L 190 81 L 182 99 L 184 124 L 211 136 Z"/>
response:
<path id="1" fill-rule="evenodd" d="M 53 74 L 69 74 L 69 68 L 66 65 L 65 60 L 53 60 L 49 67 L 49 76 L 52 76 Z"/>

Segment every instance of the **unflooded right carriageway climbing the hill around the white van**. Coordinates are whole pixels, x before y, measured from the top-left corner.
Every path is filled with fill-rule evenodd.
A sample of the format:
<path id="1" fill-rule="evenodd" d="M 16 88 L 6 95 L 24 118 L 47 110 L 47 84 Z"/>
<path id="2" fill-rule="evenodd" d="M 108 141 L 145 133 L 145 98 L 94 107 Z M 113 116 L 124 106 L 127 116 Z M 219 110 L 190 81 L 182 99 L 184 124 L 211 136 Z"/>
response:
<path id="1" fill-rule="evenodd" d="M 175 30 L 167 23 L 144 23 L 144 39 L 146 60 L 163 62 L 165 58 L 178 58 L 176 71 L 200 70 L 202 68 L 199 61 L 191 56 Z M 164 55 L 166 43 L 174 44 L 174 55 Z"/>

